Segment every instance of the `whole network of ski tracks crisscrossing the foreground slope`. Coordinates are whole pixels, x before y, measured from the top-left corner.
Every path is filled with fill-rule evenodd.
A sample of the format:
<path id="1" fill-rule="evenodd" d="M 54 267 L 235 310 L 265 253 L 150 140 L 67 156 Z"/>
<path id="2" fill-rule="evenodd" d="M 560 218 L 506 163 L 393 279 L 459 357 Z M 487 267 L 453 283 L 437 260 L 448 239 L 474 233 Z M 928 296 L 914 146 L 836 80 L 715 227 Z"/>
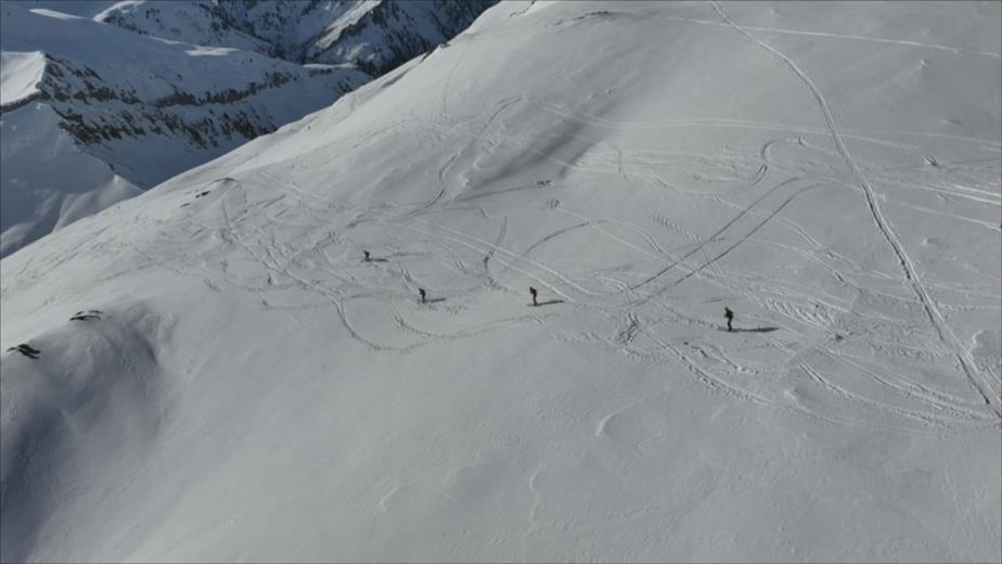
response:
<path id="1" fill-rule="evenodd" d="M 666 363 L 681 366 L 693 374 L 696 382 L 715 394 L 757 405 L 770 405 L 837 424 L 873 425 L 875 428 L 923 434 L 962 432 L 998 424 L 999 407 L 998 401 L 993 402 L 991 399 L 990 382 L 982 381 L 978 364 L 971 356 L 971 351 L 961 345 L 943 320 L 940 309 L 947 306 L 935 302 L 928 293 L 929 287 L 942 291 L 940 285 L 929 284 L 919 275 L 920 272 L 913 260 L 905 254 L 896 233 L 884 217 L 866 176 L 888 187 L 914 188 L 945 197 L 995 207 L 1002 203 L 1002 196 L 991 190 L 960 185 L 947 180 L 941 183 L 925 179 L 915 182 L 911 177 L 895 176 L 894 168 L 877 169 L 861 165 L 849 154 L 844 139 L 873 143 L 913 154 L 921 151 L 917 145 L 894 141 L 887 139 L 887 136 L 951 136 L 907 131 L 842 132 L 836 127 L 827 102 L 810 78 L 786 55 L 747 31 L 747 29 L 765 29 L 740 27 L 728 18 L 719 4 L 714 3 L 712 5 L 725 22 L 712 22 L 714 25 L 730 26 L 742 33 L 785 63 L 807 85 L 824 116 L 826 129 L 779 121 L 725 118 L 686 118 L 648 123 L 616 121 L 588 115 L 579 108 L 527 95 L 503 99 L 492 107 L 485 108 L 481 114 L 458 119 L 448 116 L 447 93 L 452 75 L 466 54 L 466 48 L 461 47 L 462 52 L 453 55 L 455 62 L 442 88 L 439 116 L 424 117 L 412 114 L 409 123 L 398 121 L 388 127 L 375 129 L 350 140 L 350 143 L 343 148 L 344 151 L 356 151 L 378 141 L 384 136 L 399 133 L 408 128 L 422 134 L 433 136 L 433 139 L 434 136 L 464 138 L 465 143 L 461 145 L 461 149 L 440 162 L 442 164 L 437 170 L 437 190 L 429 198 L 406 205 L 388 205 L 370 201 L 367 197 L 365 204 L 351 204 L 313 193 L 300 188 L 294 180 L 281 179 L 266 168 L 257 168 L 251 174 L 256 175 L 266 185 L 280 192 L 278 195 L 270 195 L 267 201 L 254 203 L 259 206 L 267 223 L 295 230 L 308 227 L 303 225 L 306 220 L 316 226 L 333 226 L 333 229 L 306 245 L 300 242 L 278 241 L 275 240 L 277 230 L 267 227 L 266 223 L 261 223 L 246 213 L 251 205 L 247 202 L 247 190 L 240 182 L 233 182 L 214 188 L 217 193 L 213 197 L 218 197 L 221 225 L 192 222 L 190 228 L 194 233 L 215 233 L 223 244 L 232 244 L 241 248 L 249 260 L 264 269 L 261 283 L 252 282 L 249 279 L 242 280 L 241 273 L 230 274 L 232 265 L 220 266 L 218 269 L 211 265 L 195 267 L 190 261 L 185 261 L 184 257 L 175 256 L 172 259 L 163 261 L 162 266 L 178 274 L 196 277 L 213 292 L 237 287 L 257 294 L 260 296 L 262 307 L 287 310 L 290 315 L 295 315 L 301 309 L 316 308 L 318 302 L 326 304 L 337 317 L 346 334 L 373 352 L 400 355 L 435 343 L 463 339 L 493 331 L 539 325 L 551 338 L 563 343 L 600 346 L 651 367 Z M 923 47 L 949 49 L 942 46 Z M 517 104 L 530 105 L 548 115 L 568 121 L 611 130 L 720 127 L 779 131 L 782 134 L 766 139 L 756 145 L 755 152 L 732 151 L 724 156 L 719 153 L 699 151 L 686 154 L 659 153 L 602 142 L 591 143 L 592 150 L 586 155 L 565 158 L 560 153 L 538 151 L 527 145 L 527 139 L 521 134 L 501 131 L 499 127 L 496 127 L 502 113 Z M 834 151 L 805 140 L 805 137 L 813 140 L 822 136 L 832 139 Z M 1002 152 L 1002 144 L 991 140 L 952 137 L 980 151 Z M 570 140 L 589 142 L 587 139 L 573 136 Z M 509 218 L 496 217 L 488 213 L 490 202 L 518 191 L 553 190 L 561 188 L 560 183 L 554 185 L 512 183 L 508 187 L 492 187 L 489 191 L 463 192 L 459 189 L 461 184 L 455 182 L 457 178 L 463 179 L 453 169 L 468 168 L 471 164 L 467 161 L 479 153 L 490 153 L 512 145 L 525 145 L 525 150 L 535 152 L 541 159 L 558 166 L 564 171 L 618 177 L 621 179 L 622 190 L 642 205 L 642 217 L 646 218 L 648 225 L 611 217 L 589 216 L 554 197 L 548 207 L 557 215 L 573 219 L 571 223 L 554 225 L 551 231 L 528 244 L 521 244 L 517 247 L 512 243 L 506 244 L 510 235 Z M 801 151 L 805 154 L 809 152 L 820 161 L 807 161 L 806 163 L 813 165 L 815 170 L 806 172 L 804 168 L 806 165 L 792 166 L 791 163 L 778 158 L 776 153 L 783 151 Z M 831 164 L 825 162 L 826 158 L 831 162 L 840 159 L 856 181 L 847 182 L 845 178 L 840 178 L 836 171 L 831 170 Z M 979 163 L 988 163 L 986 166 L 992 166 L 995 159 L 958 159 L 952 163 L 943 162 L 940 166 L 943 169 L 950 166 L 963 169 L 963 167 L 975 166 Z M 476 163 L 472 166 L 475 168 Z M 309 171 L 312 166 L 309 162 L 304 162 L 300 168 Z M 824 168 L 828 169 L 830 176 L 818 174 Z M 668 174 L 677 172 L 701 181 L 733 188 L 719 191 L 689 189 L 675 180 L 668 180 L 672 178 L 667 176 Z M 244 181 L 252 182 L 246 178 Z M 901 270 L 905 279 L 910 281 L 915 295 L 919 296 L 939 341 L 960 362 L 972 386 L 995 413 L 995 419 L 986 418 L 986 414 L 979 411 L 975 403 L 947 388 L 939 389 L 927 382 L 913 382 L 910 377 L 890 371 L 887 367 L 870 366 L 864 358 L 853 354 L 850 349 L 831 346 L 831 343 L 826 341 L 826 335 L 830 335 L 833 330 L 848 331 L 850 334 L 859 335 L 853 337 L 856 339 L 852 342 L 853 346 L 866 339 L 868 350 L 878 357 L 908 358 L 908 356 L 925 355 L 930 360 L 942 358 L 942 351 L 930 349 L 920 341 L 905 342 L 907 336 L 903 333 L 898 341 L 876 338 L 875 332 L 868 330 L 866 325 L 873 323 L 878 313 L 870 313 L 863 318 L 861 313 L 853 310 L 847 298 L 827 293 L 820 286 L 797 284 L 783 277 L 744 271 L 736 266 L 725 264 L 728 260 L 724 259 L 740 245 L 754 244 L 773 247 L 793 253 L 806 264 L 813 265 L 824 272 L 836 287 L 843 289 L 848 295 L 865 291 L 868 295 L 874 296 L 875 299 L 886 300 L 894 307 L 904 304 L 900 296 L 863 289 L 855 279 L 860 275 L 876 274 L 869 272 L 868 268 L 857 264 L 850 257 L 826 248 L 805 225 L 797 223 L 782 215 L 784 208 L 801 194 L 823 185 L 858 189 L 864 195 L 874 225 L 899 259 Z M 694 200 L 711 202 L 721 208 L 733 209 L 734 214 L 717 226 L 707 226 L 708 229 L 698 230 L 705 233 L 698 232 L 680 225 L 675 219 L 676 216 L 659 208 L 655 198 L 658 191 L 664 190 L 686 194 Z M 741 194 L 752 195 L 747 200 L 738 200 Z M 475 209 L 480 217 L 492 221 L 496 230 L 491 230 L 489 235 L 481 235 L 427 219 L 431 214 L 464 209 L 460 207 L 463 205 L 466 206 L 465 209 Z M 907 203 L 905 205 L 922 209 L 922 206 L 917 204 Z M 999 227 L 989 221 L 927 208 L 925 210 L 978 225 L 989 231 L 999 231 Z M 360 249 L 351 243 L 351 232 L 354 229 L 365 226 L 382 226 L 384 232 L 391 233 L 391 241 L 386 242 L 389 245 L 387 248 L 399 249 L 397 251 L 400 255 L 399 261 L 394 259 L 385 264 L 360 264 L 357 258 Z M 781 243 L 768 235 L 760 235 L 759 233 L 767 226 L 794 233 L 805 245 Z M 657 270 L 653 274 L 637 280 L 638 272 L 616 270 L 575 272 L 566 265 L 556 266 L 551 260 L 538 258 L 551 245 L 560 246 L 571 243 L 579 233 L 588 231 L 615 243 L 628 253 L 642 257 L 646 264 L 655 265 Z M 679 241 L 683 242 L 681 246 L 678 245 Z M 415 242 L 420 242 L 424 251 L 412 252 L 411 249 L 416 246 Z M 146 257 L 144 260 L 147 267 L 156 265 L 155 253 L 141 249 L 136 245 L 132 248 L 140 256 Z M 414 298 L 416 287 L 428 287 L 432 290 L 432 296 L 437 295 L 436 289 L 434 289 L 434 282 L 426 279 L 431 275 L 426 268 L 423 267 L 421 273 L 415 273 L 410 266 L 411 260 L 431 261 L 442 271 L 449 271 L 454 277 L 459 277 L 462 283 L 450 284 L 452 287 L 449 289 L 438 289 L 445 291 L 447 300 L 422 307 Z M 476 260 L 479 260 L 480 268 L 470 266 Z M 31 262 L 29 261 L 23 267 L 23 274 L 29 277 L 30 269 Z M 679 270 L 678 278 L 671 281 L 661 280 L 665 274 L 675 269 Z M 467 315 L 478 296 L 489 296 L 498 292 L 524 294 L 524 290 L 513 287 L 510 281 L 512 277 L 524 277 L 532 281 L 535 285 L 543 290 L 543 293 L 561 298 L 564 304 L 560 308 L 525 316 L 485 320 L 483 317 Z M 769 323 L 778 325 L 775 329 L 779 332 L 775 334 L 749 333 L 741 337 L 735 336 L 735 339 L 741 338 L 742 346 L 748 346 L 754 342 L 756 346 L 774 350 L 779 358 L 789 364 L 789 368 L 763 361 L 745 360 L 742 355 L 727 354 L 701 337 L 703 332 L 718 330 L 719 324 L 675 307 L 669 295 L 678 292 L 680 284 L 692 278 L 719 287 L 727 295 L 740 297 L 747 302 L 749 307 L 754 306 L 759 309 L 760 312 L 755 316 L 756 319 L 768 319 Z M 661 283 L 656 284 L 658 281 Z M 288 303 L 281 297 L 282 292 L 288 287 L 299 287 L 311 297 L 300 303 Z M 987 294 L 986 297 L 998 298 L 994 294 Z M 371 306 L 372 300 L 385 303 L 388 308 L 381 313 L 362 315 L 362 311 Z M 615 328 L 615 331 L 612 334 L 602 334 L 601 331 L 595 331 L 595 326 L 582 328 L 568 324 L 565 322 L 567 318 L 565 310 L 591 317 L 596 324 L 608 324 Z M 887 323 L 895 321 L 897 321 L 895 318 L 886 320 Z M 372 331 L 373 323 L 378 325 L 377 332 Z M 668 330 L 673 325 L 685 328 L 691 336 L 679 337 L 677 331 L 669 332 Z M 393 328 L 396 333 L 387 333 L 386 328 Z M 666 337 L 665 333 L 670 333 L 672 336 Z M 383 342 L 382 338 L 375 339 L 367 336 L 370 334 L 381 334 L 384 338 L 391 335 L 393 338 Z M 800 345 L 791 346 L 791 339 L 795 343 L 799 342 Z M 869 379 L 870 384 L 866 384 L 866 388 L 863 389 L 858 388 L 860 386 L 858 383 L 833 381 L 824 370 L 815 368 L 810 359 L 823 359 L 826 362 L 840 362 L 852 367 L 856 373 Z M 877 416 L 866 421 L 848 420 L 840 418 L 831 406 L 822 410 L 818 406 L 792 402 L 789 401 L 789 389 L 783 390 L 785 384 L 782 384 L 782 379 L 778 380 L 776 373 L 802 374 L 805 379 L 798 380 L 796 385 L 815 386 L 825 392 L 833 401 L 862 406 L 876 413 Z M 994 372 L 987 370 L 986 377 L 989 376 L 997 377 Z M 875 388 L 870 389 L 871 384 Z M 605 434 L 606 423 L 614 415 L 615 413 L 602 419 L 596 435 Z M 902 423 L 891 425 L 886 422 L 876 422 L 884 415 L 891 415 Z M 532 489 L 531 482 L 540 470 L 537 470 L 530 479 L 530 489 Z M 530 525 L 526 538 L 531 529 Z"/>

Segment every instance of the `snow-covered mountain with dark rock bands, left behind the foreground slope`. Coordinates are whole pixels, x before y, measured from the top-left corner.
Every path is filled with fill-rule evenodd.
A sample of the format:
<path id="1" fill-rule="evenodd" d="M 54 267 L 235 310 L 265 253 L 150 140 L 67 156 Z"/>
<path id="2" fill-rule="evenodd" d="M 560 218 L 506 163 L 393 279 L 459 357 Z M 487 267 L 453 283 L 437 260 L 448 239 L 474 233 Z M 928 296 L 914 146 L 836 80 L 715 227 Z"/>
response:
<path id="1" fill-rule="evenodd" d="M 352 69 L 166 42 L 57 12 L 7 3 L 2 10 L 2 255 L 369 79 Z M 53 154 L 33 141 L 56 138 L 73 143 L 60 141 Z M 102 171 L 81 174 L 75 161 Z"/>

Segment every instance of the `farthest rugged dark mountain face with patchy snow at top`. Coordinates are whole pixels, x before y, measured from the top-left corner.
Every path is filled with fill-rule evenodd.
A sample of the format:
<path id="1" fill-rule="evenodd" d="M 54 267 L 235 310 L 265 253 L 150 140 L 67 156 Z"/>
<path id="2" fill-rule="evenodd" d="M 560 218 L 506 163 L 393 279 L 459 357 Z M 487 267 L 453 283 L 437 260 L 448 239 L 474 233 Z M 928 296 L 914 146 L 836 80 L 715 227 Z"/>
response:
<path id="1" fill-rule="evenodd" d="M 254 50 L 297 63 L 350 64 L 380 76 L 448 40 L 492 3 L 127 1 L 95 20 L 141 34 Z"/>

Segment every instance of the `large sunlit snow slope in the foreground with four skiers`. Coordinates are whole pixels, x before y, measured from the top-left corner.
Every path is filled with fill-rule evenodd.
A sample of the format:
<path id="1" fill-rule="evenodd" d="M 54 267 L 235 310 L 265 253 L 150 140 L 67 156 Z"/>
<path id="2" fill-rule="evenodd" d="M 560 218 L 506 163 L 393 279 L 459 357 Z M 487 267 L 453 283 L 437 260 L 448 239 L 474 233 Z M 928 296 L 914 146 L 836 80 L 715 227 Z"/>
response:
<path id="1" fill-rule="evenodd" d="M 1002 560 L 1000 15 L 505 2 L 3 258 L 0 557 Z"/>

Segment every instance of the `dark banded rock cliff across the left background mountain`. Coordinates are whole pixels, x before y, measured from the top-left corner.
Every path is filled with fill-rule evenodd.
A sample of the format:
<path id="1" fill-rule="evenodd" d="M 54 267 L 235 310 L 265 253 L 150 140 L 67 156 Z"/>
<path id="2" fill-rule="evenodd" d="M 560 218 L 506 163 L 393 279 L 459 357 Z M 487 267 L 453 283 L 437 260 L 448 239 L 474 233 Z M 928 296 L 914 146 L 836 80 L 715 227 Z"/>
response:
<path id="1" fill-rule="evenodd" d="M 38 92 L 0 112 L 31 102 L 50 106 L 77 146 L 140 188 L 270 133 L 369 80 L 357 70 L 259 55 L 214 57 L 216 72 L 207 75 L 169 57 L 150 65 L 157 70 L 126 62 L 92 65 L 65 54 L 44 54 L 44 62 Z"/>

